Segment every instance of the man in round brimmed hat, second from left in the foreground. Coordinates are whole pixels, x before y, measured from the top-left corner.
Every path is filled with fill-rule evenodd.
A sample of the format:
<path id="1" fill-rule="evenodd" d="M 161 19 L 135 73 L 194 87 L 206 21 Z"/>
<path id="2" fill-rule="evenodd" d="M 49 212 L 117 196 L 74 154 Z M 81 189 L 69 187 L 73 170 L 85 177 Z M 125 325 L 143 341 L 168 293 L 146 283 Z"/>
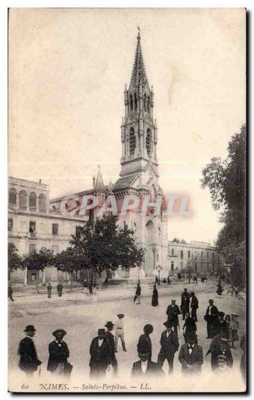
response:
<path id="1" fill-rule="evenodd" d="M 52 335 L 55 340 L 51 341 L 48 345 L 48 362 L 47 370 L 57 376 L 64 375 L 64 367 L 66 366 L 69 357 L 69 349 L 65 341 L 62 340 L 66 332 L 64 329 L 56 329 Z"/>

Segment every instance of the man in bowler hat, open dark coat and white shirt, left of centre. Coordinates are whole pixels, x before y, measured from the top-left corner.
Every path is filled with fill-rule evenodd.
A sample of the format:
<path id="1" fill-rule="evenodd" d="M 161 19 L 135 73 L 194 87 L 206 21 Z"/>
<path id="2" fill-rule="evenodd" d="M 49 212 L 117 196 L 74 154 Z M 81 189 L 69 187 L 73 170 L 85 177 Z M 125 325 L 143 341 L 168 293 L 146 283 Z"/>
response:
<path id="1" fill-rule="evenodd" d="M 98 329 L 98 336 L 92 339 L 90 356 L 90 378 L 105 376 L 111 363 L 111 346 L 105 337 L 105 329 Z"/>

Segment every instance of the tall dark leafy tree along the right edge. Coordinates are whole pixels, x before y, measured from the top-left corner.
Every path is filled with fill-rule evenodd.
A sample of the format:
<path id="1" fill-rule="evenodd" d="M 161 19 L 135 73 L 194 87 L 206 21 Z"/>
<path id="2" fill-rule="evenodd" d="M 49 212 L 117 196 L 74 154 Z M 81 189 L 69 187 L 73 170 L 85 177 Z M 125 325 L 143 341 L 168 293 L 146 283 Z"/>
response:
<path id="1" fill-rule="evenodd" d="M 201 186 L 208 187 L 215 210 L 223 207 L 216 245 L 224 261 L 231 265 L 231 282 L 245 285 L 245 185 L 246 185 L 246 125 L 228 143 L 224 160 L 212 158 L 202 170 Z"/>

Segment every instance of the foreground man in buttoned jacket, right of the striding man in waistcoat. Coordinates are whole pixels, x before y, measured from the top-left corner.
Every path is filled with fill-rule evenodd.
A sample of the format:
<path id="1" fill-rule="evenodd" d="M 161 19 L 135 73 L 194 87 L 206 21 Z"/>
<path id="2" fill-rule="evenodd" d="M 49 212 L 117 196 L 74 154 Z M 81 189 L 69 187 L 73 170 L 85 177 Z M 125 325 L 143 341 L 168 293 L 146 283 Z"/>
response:
<path id="1" fill-rule="evenodd" d="M 193 333 L 188 336 L 187 343 L 181 345 L 178 359 L 181 363 L 182 373 L 201 373 L 203 350 L 201 346 L 196 344 L 196 339 L 197 336 Z"/>

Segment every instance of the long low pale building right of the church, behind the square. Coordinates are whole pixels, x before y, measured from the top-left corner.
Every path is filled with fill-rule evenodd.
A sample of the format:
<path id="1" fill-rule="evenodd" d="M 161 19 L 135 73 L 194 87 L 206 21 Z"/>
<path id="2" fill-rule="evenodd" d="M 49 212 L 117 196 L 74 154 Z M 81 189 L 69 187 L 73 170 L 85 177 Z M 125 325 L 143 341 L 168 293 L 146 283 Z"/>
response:
<path id="1" fill-rule="evenodd" d="M 203 241 L 190 243 L 168 242 L 170 273 L 187 272 L 188 267 L 197 274 L 220 271 L 224 267 L 223 257 L 216 247 Z"/>

